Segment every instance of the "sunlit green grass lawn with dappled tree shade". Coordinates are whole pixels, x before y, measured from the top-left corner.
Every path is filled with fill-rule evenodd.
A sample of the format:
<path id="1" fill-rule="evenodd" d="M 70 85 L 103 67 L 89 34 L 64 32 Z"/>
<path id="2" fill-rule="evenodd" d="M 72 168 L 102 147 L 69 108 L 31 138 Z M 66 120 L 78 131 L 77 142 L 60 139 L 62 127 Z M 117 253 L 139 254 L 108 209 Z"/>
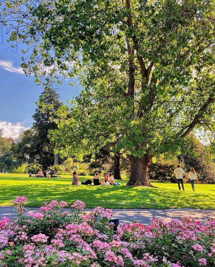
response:
<path id="1" fill-rule="evenodd" d="M 91 177 L 79 177 L 85 181 Z M 80 199 L 87 208 L 127 209 L 215 209 L 215 184 L 185 184 L 179 191 L 177 184 L 152 182 L 159 188 L 127 186 L 71 186 L 72 177 L 38 178 L 28 174 L 0 173 L 0 206 L 12 206 L 11 200 L 26 196 L 28 207 L 40 207 L 44 201 L 65 200 L 73 203 Z M 126 180 L 120 181 L 126 184 Z"/>

